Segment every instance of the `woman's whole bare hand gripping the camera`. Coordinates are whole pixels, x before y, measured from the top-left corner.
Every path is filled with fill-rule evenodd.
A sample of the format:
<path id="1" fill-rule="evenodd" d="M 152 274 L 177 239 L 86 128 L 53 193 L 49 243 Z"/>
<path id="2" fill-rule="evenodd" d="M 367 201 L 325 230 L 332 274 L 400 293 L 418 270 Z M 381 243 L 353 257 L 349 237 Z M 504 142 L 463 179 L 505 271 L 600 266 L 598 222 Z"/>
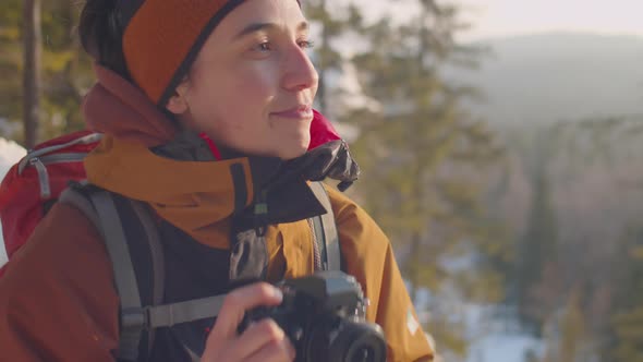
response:
<path id="1" fill-rule="evenodd" d="M 236 328 L 245 311 L 277 305 L 283 295 L 269 283 L 257 282 L 233 290 L 226 297 L 217 322 L 206 341 L 203 362 L 291 362 L 294 348 L 271 318 L 253 323 L 243 334 Z"/>

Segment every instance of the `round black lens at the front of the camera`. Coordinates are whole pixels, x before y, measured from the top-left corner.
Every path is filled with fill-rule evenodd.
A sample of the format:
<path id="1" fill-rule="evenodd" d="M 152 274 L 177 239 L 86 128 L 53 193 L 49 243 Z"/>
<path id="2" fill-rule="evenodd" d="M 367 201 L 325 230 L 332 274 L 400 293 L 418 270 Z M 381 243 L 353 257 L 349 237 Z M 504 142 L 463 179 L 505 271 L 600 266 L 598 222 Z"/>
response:
<path id="1" fill-rule="evenodd" d="M 329 361 L 385 362 L 386 341 L 376 324 L 344 321 L 330 341 Z"/>

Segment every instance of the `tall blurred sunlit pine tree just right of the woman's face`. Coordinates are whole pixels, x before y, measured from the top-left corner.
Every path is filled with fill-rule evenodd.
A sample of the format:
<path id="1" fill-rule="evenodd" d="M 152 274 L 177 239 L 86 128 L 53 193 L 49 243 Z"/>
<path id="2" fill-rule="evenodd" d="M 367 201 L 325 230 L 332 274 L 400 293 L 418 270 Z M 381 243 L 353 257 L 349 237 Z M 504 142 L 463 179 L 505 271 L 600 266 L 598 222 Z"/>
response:
<path id="1" fill-rule="evenodd" d="M 474 89 L 440 76 L 442 65 L 471 62 L 476 52 L 453 40 L 461 27 L 457 8 L 428 0 L 418 5 L 405 24 L 385 17 L 361 31 L 369 49 L 352 61 L 379 108 L 342 118 L 360 130 L 352 145 L 364 171 L 359 196 L 396 243 L 415 302 L 421 289 L 439 292 L 442 286 L 457 286 L 465 298 L 500 300 L 501 277 L 487 266 L 504 255 L 502 232 L 480 197 L 481 174 L 501 153 L 485 123 L 461 106 Z M 450 269 L 447 256 L 470 257 L 472 265 Z M 463 353 L 456 319 L 435 317 L 427 330 L 445 350 Z"/>

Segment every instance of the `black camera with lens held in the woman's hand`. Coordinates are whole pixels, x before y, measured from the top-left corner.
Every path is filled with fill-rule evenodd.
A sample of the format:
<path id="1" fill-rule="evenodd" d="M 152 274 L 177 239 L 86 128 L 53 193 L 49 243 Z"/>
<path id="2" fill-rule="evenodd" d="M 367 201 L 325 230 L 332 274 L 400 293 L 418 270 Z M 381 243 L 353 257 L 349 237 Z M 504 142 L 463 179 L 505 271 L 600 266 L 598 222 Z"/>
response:
<path id="1" fill-rule="evenodd" d="M 365 319 L 367 300 L 354 277 L 320 272 L 278 283 L 281 304 L 257 307 L 240 325 L 270 317 L 296 350 L 298 362 L 385 362 L 386 340 L 377 324 Z"/>

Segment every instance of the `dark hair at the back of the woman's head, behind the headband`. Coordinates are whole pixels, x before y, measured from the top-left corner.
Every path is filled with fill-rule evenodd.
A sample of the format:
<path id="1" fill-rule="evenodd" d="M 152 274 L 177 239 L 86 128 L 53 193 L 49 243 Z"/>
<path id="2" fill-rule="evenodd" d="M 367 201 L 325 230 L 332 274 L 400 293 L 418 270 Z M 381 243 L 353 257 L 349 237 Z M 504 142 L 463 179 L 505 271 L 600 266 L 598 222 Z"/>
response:
<path id="1" fill-rule="evenodd" d="M 87 0 L 78 22 L 78 36 L 85 51 L 99 64 L 130 80 L 123 55 L 125 19 L 118 0 Z"/>

